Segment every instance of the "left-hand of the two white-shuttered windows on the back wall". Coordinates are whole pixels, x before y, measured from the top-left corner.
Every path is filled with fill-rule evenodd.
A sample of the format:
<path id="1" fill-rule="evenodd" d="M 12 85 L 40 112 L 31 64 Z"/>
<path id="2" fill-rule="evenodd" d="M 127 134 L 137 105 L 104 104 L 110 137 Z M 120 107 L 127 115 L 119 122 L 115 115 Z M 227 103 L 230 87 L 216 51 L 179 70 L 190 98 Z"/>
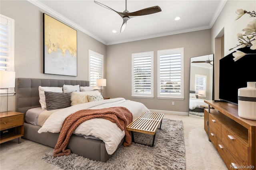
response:
<path id="1" fill-rule="evenodd" d="M 132 97 L 154 97 L 154 52 L 132 54 Z"/>

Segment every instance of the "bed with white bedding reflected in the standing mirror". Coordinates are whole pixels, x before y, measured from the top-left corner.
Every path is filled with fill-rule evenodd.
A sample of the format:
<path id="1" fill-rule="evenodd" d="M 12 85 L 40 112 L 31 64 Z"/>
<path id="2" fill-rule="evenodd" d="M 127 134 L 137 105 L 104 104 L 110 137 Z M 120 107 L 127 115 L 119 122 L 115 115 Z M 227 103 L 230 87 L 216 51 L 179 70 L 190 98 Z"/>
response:
<path id="1" fill-rule="evenodd" d="M 190 91 L 189 111 L 204 112 L 204 107 L 201 107 L 202 105 L 206 105 L 204 103 L 204 99 L 198 99 L 198 97 L 196 96 L 196 91 Z"/>

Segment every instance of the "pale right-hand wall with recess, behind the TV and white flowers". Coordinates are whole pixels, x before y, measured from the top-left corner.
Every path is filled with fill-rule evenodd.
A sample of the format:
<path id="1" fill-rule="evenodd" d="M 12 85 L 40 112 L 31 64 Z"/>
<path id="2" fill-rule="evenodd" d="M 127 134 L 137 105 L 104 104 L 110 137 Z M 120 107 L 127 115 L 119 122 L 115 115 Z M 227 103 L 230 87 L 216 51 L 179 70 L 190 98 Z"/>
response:
<path id="1" fill-rule="evenodd" d="M 214 99 L 216 100 L 219 99 L 219 60 L 238 49 L 237 47 L 229 51 L 230 48 L 239 44 L 236 34 L 243 33 L 242 29 L 246 28 L 247 24 L 255 19 L 245 14 L 238 20 L 235 20 L 237 9 L 244 9 L 250 12 L 255 11 L 256 0 L 227 0 L 220 15 L 212 26 L 211 40 L 212 53 L 214 53 Z"/>

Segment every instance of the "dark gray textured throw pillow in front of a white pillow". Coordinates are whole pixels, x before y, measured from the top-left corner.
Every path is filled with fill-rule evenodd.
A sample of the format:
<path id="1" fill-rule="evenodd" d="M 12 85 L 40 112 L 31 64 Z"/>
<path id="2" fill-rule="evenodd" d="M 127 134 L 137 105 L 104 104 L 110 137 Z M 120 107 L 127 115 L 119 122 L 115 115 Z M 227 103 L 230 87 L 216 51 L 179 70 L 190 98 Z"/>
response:
<path id="1" fill-rule="evenodd" d="M 44 91 L 44 95 L 46 101 L 46 109 L 48 111 L 71 106 L 71 93 Z"/>

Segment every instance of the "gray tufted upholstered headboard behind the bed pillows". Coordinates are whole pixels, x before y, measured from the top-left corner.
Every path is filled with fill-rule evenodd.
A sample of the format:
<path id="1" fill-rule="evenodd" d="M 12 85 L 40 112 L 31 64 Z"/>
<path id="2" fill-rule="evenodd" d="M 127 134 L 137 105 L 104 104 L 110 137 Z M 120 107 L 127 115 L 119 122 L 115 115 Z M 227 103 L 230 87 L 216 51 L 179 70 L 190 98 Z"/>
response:
<path id="1" fill-rule="evenodd" d="M 89 81 L 55 79 L 16 79 L 16 111 L 26 113 L 28 109 L 40 107 L 38 87 L 63 87 L 63 85 L 89 86 Z"/>

